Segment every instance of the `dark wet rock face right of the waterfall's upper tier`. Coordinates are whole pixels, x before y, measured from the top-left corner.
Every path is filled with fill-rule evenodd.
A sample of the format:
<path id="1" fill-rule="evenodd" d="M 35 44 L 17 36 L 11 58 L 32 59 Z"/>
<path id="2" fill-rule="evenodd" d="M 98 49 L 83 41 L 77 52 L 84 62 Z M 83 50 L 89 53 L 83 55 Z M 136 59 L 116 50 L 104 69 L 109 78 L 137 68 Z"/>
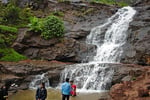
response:
<path id="1" fill-rule="evenodd" d="M 135 7 L 137 14 L 130 23 L 123 63 L 150 65 L 150 1 Z"/>

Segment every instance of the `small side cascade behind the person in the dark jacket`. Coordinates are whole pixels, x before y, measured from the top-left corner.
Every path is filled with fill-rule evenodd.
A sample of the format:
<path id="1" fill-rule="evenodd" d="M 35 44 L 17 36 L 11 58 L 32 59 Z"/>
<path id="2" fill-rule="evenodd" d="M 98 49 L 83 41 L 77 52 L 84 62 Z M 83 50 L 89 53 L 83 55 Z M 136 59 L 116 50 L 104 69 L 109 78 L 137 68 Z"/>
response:
<path id="1" fill-rule="evenodd" d="M 46 76 L 46 73 L 43 73 L 41 75 L 36 75 L 34 77 L 33 81 L 29 84 L 29 88 L 30 89 L 37 89 L 39 87 L 39 85 L 41 84 L 41 82 L 45 83 L 46 88 L 50 87 L 49 79 Z"/>

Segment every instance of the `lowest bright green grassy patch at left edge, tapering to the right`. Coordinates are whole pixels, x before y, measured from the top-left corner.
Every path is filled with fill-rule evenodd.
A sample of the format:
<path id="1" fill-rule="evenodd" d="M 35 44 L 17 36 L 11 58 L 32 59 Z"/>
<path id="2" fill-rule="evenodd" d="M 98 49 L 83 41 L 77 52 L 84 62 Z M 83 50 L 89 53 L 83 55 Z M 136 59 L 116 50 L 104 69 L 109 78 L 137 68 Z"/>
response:
<path id="1" fill-rule="evenodd" d="M 27 57 L 17 53 L 12 48 L 0 48 L 0 54 L 2 54 L 0 61 L 20 61 L 27 59 Z"/>

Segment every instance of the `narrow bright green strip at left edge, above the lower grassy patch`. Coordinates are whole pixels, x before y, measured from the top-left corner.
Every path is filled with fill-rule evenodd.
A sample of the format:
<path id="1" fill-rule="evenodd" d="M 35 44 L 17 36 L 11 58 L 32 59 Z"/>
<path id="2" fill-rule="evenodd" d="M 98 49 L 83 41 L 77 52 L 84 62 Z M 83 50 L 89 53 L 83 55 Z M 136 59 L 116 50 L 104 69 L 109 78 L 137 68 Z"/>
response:
<path id="1" fill-rule="evenodd" d="M 2 32 L 2 33 L 6 33 L 6 32 L 17 33 L 18 29 L 15 28 L 15 27 L 9 27 L 9 26 L 5 26 L 5 25 L 0 25 L 0 32 Z"/>

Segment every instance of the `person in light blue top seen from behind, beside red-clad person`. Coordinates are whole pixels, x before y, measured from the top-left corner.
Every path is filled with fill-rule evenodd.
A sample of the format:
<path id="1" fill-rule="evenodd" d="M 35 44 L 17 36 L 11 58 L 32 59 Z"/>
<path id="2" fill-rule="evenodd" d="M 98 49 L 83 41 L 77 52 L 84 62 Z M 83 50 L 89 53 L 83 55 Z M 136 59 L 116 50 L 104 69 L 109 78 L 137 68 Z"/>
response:
<path id="1" fill-rule="evenodd" d="M 69 100 L 71 92 L 71 85 L 69 83 L 69 78 L 66 78 L 66 82 L 64 82 L 61 86 L 62 100 Z"/>

